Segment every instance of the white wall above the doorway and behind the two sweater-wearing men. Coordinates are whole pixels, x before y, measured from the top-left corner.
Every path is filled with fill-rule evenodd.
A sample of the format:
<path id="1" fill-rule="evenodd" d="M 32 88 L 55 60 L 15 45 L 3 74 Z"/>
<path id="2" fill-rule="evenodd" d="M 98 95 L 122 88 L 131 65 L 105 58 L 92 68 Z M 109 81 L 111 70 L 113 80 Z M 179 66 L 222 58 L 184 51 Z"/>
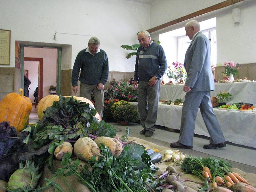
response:
<path id="1" fill-rule="evenodd" d="M 30 41 L 71 45 L 71 63 L 62 69 L 73 68 L 92 35 L 100 38 L 110 70 L 134 71 L 135 58 L 126 60 L 129 51 L 120 46 L 136 44 L 137 32 L 149 28 L 150 5 L 124 0 L 0 0 L 0 18 L 0 28 L 11 30 L 11 64 L 0 67 L 14 67 L 15 41 Z M 56 31 L 79 35 L 57 33 L 55 41 Z"/>

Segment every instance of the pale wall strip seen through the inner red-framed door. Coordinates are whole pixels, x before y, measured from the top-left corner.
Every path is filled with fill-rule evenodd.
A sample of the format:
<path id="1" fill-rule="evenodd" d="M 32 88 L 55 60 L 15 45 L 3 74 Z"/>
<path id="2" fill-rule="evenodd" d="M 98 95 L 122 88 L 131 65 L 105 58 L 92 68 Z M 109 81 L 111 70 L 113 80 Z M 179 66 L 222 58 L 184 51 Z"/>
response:
<path id="1" fill-rule="evenodd" d="M 24 69 L 28 70 L 28 79 L 31 81 L 29 91 L 29 99 L 34 102 L 34 92 L 38 86 L 38 63 L 39 61 L 24 61 Z"/>

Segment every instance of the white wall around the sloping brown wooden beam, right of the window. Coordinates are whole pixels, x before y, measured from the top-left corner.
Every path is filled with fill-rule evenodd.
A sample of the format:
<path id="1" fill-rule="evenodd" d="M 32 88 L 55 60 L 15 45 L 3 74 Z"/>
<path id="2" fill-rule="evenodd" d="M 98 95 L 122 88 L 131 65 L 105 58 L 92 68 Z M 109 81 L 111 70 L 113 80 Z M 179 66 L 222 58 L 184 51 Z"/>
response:
<path id="1" fill-rule="evenodd" d="M 151 6 L 150 28 L 164 24 L 168 21 L 178 19 L 182 16 L 199 11 L 206 7 L 223 2 L 224 0 L 162 0 Z M 232 23 L 232 9 L 241 9 L 241 23 Z M 196 20 L 203 21 L 217 17 L 217 63 L 224 64 L 224 61 L 235 63 L 256 62 L 256 1 L 246 0 L 235 5 L 230 5 L 221 10 L 210 12 L 196 17 Z M 152 38 L 157 39 L 158 35 L 184 27 L 187 21 L 171 27 L 151 33 Z"/>

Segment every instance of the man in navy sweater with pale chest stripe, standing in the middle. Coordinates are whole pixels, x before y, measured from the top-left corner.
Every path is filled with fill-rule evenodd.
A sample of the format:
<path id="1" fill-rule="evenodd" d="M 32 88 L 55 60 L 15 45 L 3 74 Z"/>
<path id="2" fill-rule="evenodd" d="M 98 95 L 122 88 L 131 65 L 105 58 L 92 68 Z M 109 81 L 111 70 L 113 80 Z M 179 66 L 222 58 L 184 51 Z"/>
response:
<path id="1" fill-rule="evenodd" d="M 140 134 L 151 137 L 155 131 L 160 80 L 167 62 L 163 47 L 151 40 L 148 31 L 140 31 L 137 36 L 141 46 L 137 50 L 133 86 L 138 86 L 140 124 L 144 128 Z"/>

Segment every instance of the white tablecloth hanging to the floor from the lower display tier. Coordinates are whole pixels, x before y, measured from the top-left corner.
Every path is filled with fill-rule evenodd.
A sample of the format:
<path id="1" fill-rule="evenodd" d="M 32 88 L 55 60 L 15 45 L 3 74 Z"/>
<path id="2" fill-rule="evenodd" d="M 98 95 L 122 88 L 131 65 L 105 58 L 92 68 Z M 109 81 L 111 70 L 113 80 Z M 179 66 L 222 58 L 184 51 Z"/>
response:
<path id="1" fill-rule="evenodd" d="M 138 108 L 137 103 L 131 103 Z M 252 111 L 228 111 L 213 108 L 226 141 L 256 148 L 256 113 Z M 180 130 L 182 107 L 167 104 L 158 105 L 156 125 Z M 210 137 L 201 112 L 196 116 L 195 133 Z"/>

